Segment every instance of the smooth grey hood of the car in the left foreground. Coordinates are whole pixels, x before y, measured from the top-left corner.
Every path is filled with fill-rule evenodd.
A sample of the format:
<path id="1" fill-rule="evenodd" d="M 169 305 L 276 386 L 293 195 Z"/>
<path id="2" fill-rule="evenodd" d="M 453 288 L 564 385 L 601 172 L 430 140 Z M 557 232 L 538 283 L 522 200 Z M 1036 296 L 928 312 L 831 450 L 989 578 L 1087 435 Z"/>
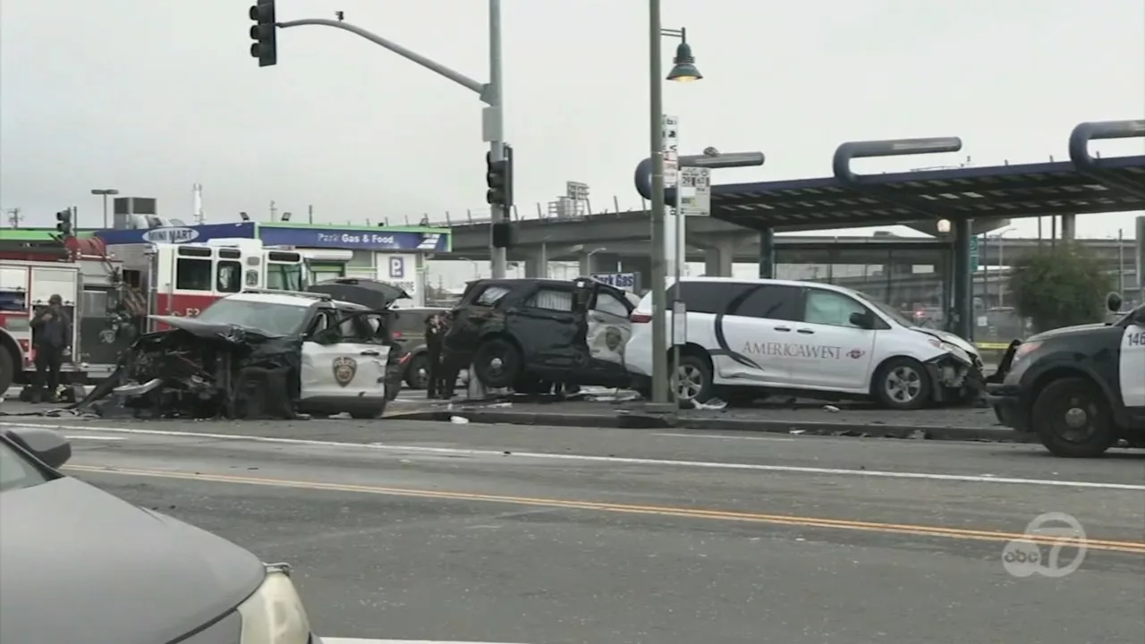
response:
<path id="1" fill-rule="evenodd" d="M 266 576 L 251 552 L 76 479 L 0 505 L 0 642 L 172 642 Z"/>

